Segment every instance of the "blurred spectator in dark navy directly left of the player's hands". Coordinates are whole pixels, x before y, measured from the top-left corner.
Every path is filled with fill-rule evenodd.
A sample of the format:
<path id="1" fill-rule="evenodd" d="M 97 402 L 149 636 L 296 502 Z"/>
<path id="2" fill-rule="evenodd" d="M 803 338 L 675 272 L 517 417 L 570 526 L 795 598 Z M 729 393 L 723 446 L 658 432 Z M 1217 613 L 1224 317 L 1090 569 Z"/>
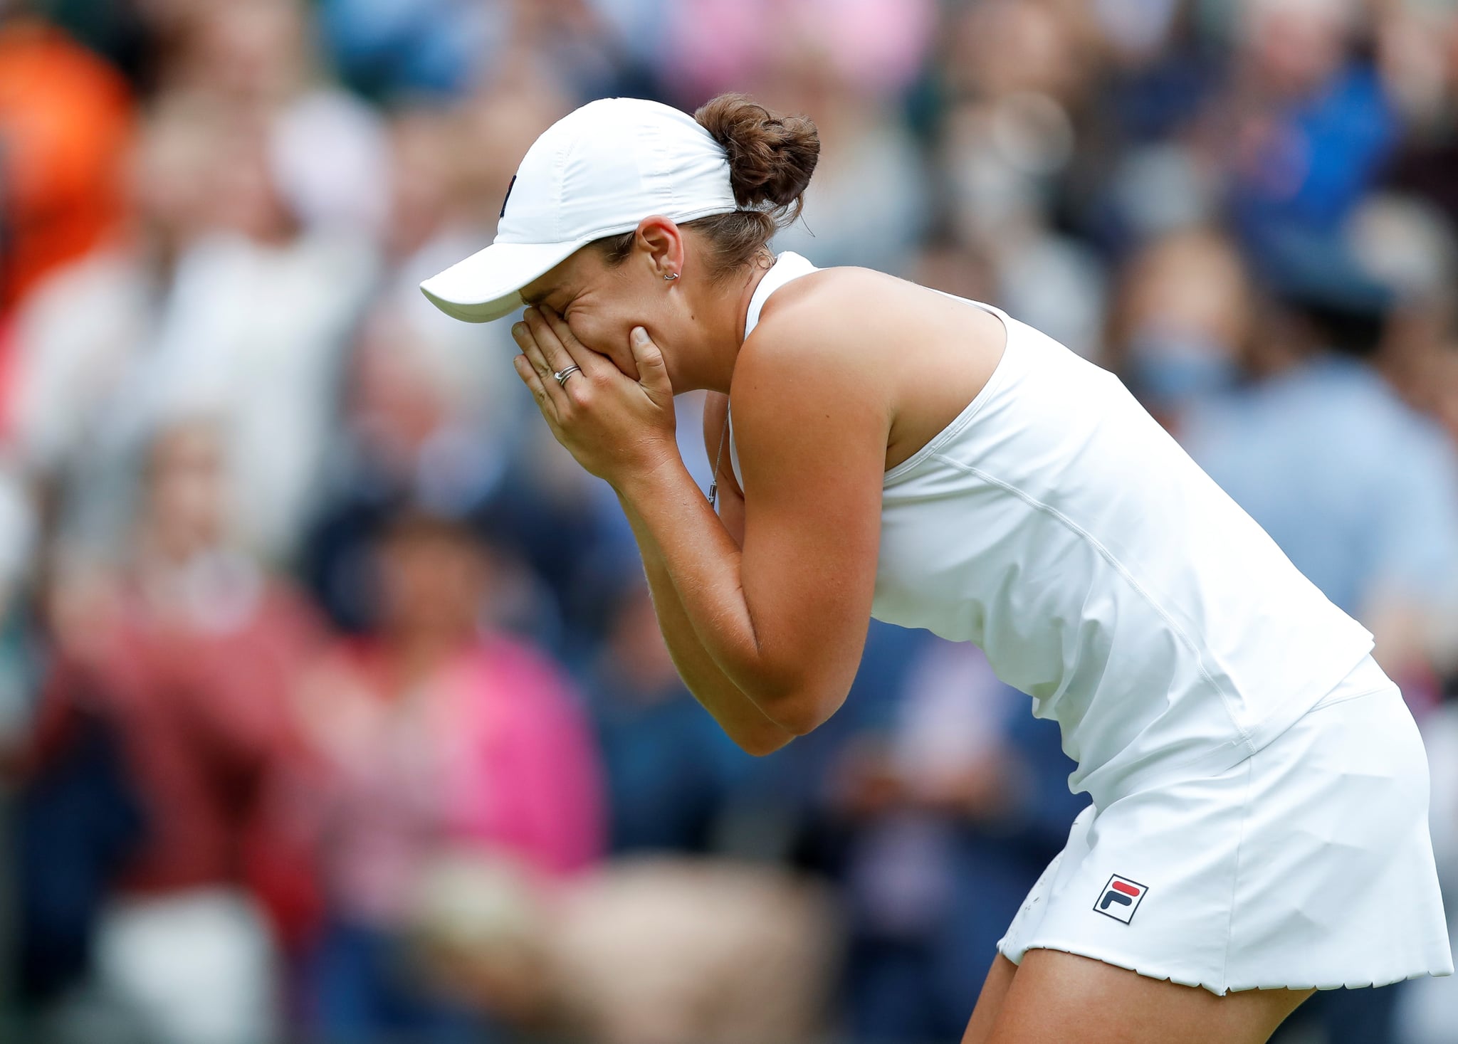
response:
<path id="1" fill-rule="evenodd" d="M 433 330 L 389 303 L 366 319 L 300 572 L 335 624 L 367 630 L 382 605 L 375 542 L 399 505 L 414 503 L 469 519 L 510 551 L 497 556 L 491 623 L 553 649 L 590 640 L 583 631 L 596 633 L 605 585 L 631 550 L 630 534 L 614 537 L 615 500 L 550 433 L 522 430 L 519 382 L 500 389 L 513 401 L 484 414 Z"/>

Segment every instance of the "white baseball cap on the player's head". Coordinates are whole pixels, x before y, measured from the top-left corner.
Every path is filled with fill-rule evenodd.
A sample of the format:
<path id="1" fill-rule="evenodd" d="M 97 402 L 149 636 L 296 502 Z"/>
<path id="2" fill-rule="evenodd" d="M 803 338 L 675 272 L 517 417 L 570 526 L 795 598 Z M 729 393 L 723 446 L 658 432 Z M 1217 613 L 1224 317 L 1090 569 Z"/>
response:
<path id="1" fill-rule="evenodd" d="M 490 322 L 593 239 L 631 232 L 650 214 L 691 222 L 738 209 L 723 146 L 691 115 L 605 98 L 542 131 L 506 191 L 496 241 L 420 289 L 446 315 Z"/>

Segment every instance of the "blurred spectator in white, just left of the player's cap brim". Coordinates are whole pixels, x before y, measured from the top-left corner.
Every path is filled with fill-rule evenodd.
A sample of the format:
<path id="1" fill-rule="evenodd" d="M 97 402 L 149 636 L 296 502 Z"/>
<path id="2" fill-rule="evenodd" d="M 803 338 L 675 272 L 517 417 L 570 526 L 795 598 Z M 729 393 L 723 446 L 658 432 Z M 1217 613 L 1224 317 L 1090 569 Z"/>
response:
<path id="1" fill-rule="evenodd" d="M 210 171 L 219 233 L 179 258 L 120 424 L 125 435 L 178 411 L 217 414 L 236 461 L 243 537 L 283 561 L 316 491 L 330 388 L 373 258 L 297 226 L 271 181 L 262 128 L 232 127 L 219 144 Z"/>

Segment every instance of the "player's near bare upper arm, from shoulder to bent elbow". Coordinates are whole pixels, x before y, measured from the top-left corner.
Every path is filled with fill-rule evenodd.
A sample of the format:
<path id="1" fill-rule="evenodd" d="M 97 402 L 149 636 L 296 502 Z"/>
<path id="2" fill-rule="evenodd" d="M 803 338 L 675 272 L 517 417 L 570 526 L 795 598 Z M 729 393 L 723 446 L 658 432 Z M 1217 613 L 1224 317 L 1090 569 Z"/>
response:
<path id="1" fill-rule="evenodd" d="M 741 351 L 733 413 L 741 585 L 774 679 L 764 698 L 809 701 L 795 716 L 814 728 L 844 698 L 866 640 L 889 402 L 868 353 L 799 312 Z"/>

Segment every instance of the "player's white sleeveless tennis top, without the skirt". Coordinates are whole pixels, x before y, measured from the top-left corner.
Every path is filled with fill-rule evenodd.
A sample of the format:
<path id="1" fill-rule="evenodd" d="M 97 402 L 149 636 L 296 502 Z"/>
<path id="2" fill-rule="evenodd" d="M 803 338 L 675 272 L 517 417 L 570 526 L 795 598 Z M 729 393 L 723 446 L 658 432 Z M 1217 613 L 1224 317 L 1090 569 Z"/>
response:
<path id="1" fill-rule="evenodd" d="M 780 254 L 749 302 L 815 271 Z M 962 300 L 962 299 L 958 299 Z M 1099 806 L 1223 771 L 1372 649 L 1112 373 L 1002 311 L 987 385 L 885 474 L 872 615 L 980 646 Z M 739 474 L 730 421 L 729 459 Z M 741 480 L 742 487 L 742 480 Z"/>

